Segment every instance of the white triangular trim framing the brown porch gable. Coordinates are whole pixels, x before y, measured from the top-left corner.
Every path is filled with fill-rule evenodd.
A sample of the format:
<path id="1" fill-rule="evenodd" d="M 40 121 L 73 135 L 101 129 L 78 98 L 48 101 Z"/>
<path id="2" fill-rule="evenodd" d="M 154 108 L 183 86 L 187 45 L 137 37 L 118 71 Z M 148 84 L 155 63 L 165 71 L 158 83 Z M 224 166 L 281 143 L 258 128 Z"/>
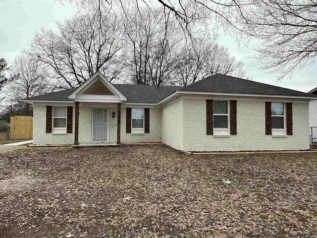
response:
<path id="1" fill-rule="evenodd" d="M 106 87 L 114 94 L 114 95 L 82 95 L 81 93 L 84 92 L 87 88 L 89 88 L 95 81 L 99 78 L 102 79 L 101 81 L 106 85 Z M 74 92 L 72 92 L 68 98 L 72 101 L 76 102 L 121 102 L 127 101 L 128 99 L 110 83 L 109 80 L 99 71 L 94 73 L 86 82 L 80 85 Z"/>

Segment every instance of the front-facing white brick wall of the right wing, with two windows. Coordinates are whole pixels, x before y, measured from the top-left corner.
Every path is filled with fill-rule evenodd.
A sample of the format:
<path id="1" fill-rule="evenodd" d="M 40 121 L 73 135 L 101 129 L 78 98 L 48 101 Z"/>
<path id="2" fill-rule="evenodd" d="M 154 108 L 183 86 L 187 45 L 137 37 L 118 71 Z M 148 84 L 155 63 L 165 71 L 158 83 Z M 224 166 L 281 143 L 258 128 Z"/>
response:
<path id="1" fill-rule="evenodd" d="M 265 102 L 237 101 L 237 135 L 206 134 L 206 100 L 184 99 L 184 145 L 187 151 L 309 149 L 309 104 L 293 103 L 293 135 L 265 135 Z"/>

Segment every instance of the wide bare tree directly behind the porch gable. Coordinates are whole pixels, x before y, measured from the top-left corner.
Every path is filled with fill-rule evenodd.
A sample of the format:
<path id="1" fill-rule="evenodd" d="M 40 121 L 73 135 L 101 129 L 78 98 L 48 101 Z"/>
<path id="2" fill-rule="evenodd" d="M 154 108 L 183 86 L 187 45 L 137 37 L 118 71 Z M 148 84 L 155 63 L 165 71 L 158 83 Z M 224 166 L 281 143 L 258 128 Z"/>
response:
<path id="1" fill-rule="evenodd" d="M 59 23 L 57 32 L 37 32 L 32 56 L 49 66 L 58 88 L 79 86 L 98 70 L 113 81 L 124 67 L 120 26 L 108 12 L 75 16 Z"/>

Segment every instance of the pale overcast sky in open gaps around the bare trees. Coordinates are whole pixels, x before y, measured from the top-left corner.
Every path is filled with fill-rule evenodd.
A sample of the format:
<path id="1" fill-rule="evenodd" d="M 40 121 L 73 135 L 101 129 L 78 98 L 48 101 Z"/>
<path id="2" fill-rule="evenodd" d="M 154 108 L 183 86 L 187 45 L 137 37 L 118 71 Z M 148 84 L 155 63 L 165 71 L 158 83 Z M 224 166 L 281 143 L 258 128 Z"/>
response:
<path id="1" fill-rule="evenodd" d="M 10 64 L 22 51 L 28 50 L 36 30 L 56 29 L 56 21 L 63 21 L 76 12 L 76 6 L 58 0 L 0 0 L 0 58 Z M 261 42 L 252 40 L 239 45 L 236 38 L 219 35 L 218 44 L 228 47 L 231 56 L 245 63 L 244 70 L 254 81 L 308 92 L 317 87 L 317 65 L 294 71 L 291 79 L 278 82 L 278 74 L 263 71 L 261 62 L 253 57 L 254 48 Z"/>

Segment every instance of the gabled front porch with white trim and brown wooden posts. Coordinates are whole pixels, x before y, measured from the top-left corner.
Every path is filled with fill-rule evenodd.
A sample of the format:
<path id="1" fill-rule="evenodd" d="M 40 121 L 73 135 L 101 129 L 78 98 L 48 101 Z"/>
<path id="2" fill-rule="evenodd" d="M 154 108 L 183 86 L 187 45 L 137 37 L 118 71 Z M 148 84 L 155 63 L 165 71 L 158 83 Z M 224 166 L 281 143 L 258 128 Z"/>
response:
<path id="1" fill-rule="evenodd" d="M 85 83 L 71 93 L 68 99 L 75 102 L 74 145 L 79 145 L 79 115 L 81 106 L 85 107 L 86 112 L 83 113 L 86 113 L 86 119 L 88 117 L 87 108 L 91 108 L 92 143 L 109 142 L 109 134 L 112 132 L 109 132 L 111 130 L 109 118 L 112 117 L 111 125 L 114 125 L 113 119 L 116 117 L 116 143 L 120 144 L 121 102 L 125 103 L 127 98 L 101 72 L 97 71 L 92 75 Z M 88 125 L 82 126 L 89 127 Z"/>

